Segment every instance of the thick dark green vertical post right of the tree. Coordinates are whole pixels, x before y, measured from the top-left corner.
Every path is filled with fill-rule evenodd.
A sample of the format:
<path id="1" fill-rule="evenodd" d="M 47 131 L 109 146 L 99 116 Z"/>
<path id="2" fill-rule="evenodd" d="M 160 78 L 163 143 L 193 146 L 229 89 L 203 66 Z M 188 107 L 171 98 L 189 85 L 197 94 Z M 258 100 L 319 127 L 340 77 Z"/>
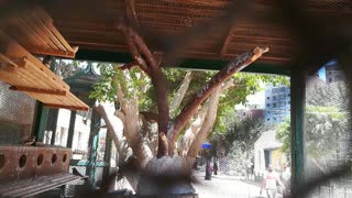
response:
<path id="1" fill-rule="evenodd" d="M 305 103 L 306 74 L 294 70 L 290 77 L 292 87 L 292 183 L 293 187 L 305 179 Z"/>

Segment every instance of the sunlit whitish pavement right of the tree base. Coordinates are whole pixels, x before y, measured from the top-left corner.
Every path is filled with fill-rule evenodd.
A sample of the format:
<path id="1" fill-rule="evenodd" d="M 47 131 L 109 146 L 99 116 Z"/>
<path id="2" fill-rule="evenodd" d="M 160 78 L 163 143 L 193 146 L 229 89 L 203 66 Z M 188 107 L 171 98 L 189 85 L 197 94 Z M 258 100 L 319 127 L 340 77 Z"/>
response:
<path id="1" fill-rule="evenodd" d="M 261 188 L 251 182 L 240 180 L 233 176 L 212 175 L 211 180 L 205 180 L 205 173 L 197 172 L 199 183 L 193 184 L 199 198 L 231 197 L 231 198 L 265 198 L 265 190 L 260 196 Z M 277 198 L 279 198 L 278 196 Z"/>

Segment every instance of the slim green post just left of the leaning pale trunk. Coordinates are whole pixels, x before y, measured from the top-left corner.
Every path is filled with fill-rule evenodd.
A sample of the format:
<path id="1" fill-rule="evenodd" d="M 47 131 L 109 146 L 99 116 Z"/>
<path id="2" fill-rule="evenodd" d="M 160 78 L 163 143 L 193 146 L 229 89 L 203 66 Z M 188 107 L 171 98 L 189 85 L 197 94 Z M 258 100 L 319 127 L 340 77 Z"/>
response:
<path id="1" fill-rule="evenodd" d="M 96 110 L 92 110 L 90 134 L 88 141 L 89 148 L 87 166 L 88 184 L 91 187 L 91 189 L 95 189 L 100 120 L 100 116 L 96 112 Z"/>

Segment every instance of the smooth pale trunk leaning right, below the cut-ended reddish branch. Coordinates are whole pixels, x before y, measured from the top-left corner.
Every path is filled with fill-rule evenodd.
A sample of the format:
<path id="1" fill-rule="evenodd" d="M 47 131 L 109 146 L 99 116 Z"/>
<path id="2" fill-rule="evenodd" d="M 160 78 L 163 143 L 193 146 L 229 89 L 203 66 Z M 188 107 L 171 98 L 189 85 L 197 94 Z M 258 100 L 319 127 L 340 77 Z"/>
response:
<path id="1" fill-rule="evenodd" d="M 209 108 L 207 118 L 201 125 L 200 131 L 198 132 L 195 141 L 191 143 L 188 150 L 188 156 L 196 157 L 198 151 L 201 147 L 201 143 L 207 140 L 209 133 L 211 132 L 212 125 L 217 120 L 218 107 L 219 107 L 219 99 L 222 88 L 218 87 L 209 98 Z"/>

